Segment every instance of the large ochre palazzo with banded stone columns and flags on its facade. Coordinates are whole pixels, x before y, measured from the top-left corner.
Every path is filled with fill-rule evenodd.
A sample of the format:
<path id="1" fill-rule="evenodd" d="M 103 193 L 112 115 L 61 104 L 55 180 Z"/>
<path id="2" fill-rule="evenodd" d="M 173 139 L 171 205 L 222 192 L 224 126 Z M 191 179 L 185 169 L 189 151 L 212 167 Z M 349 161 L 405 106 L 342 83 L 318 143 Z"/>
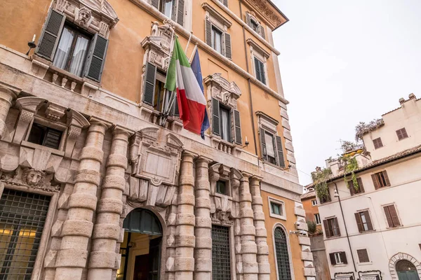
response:
<path id="1" fill-rule="evenodd" d="M 274 3 L 3 0 L 0 15 L 1 279 L 314 279 Z M 176 108 L 159 125 L 173 31 L 199 48 L 204 140 Z"/>

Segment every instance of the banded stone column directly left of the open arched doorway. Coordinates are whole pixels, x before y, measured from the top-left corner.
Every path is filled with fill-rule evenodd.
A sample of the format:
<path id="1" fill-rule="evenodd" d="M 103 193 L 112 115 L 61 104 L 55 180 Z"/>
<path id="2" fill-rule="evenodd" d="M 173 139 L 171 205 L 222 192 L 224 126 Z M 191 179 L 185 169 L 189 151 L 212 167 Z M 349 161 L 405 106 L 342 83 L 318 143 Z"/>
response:
<path id="1" fill-rule="evenodd" d="M 102 181 L 96 223 L 93 228 L 92 250 L 89 255 L 88 280 L 112 279 L 116 262 L 116 242 L 120 236 L 120 216 L 123 210 L 124 172 L 127 168 L 127 146 L 130 132 L 114 128 L 107 172 Z"/>

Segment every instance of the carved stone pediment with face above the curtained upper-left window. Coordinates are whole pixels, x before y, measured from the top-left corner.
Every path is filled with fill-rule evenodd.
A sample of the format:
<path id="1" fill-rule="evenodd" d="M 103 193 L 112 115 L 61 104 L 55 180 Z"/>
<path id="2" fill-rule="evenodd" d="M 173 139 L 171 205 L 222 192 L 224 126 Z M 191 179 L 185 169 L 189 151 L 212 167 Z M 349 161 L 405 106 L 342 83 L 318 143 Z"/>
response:
<path id="1" fill-rule="evenodd" d="M 106 0 L 55 0 L 53 7 L 65 13 L 67 20 L 105 37 L 119 21 L 115 10 Z"/>

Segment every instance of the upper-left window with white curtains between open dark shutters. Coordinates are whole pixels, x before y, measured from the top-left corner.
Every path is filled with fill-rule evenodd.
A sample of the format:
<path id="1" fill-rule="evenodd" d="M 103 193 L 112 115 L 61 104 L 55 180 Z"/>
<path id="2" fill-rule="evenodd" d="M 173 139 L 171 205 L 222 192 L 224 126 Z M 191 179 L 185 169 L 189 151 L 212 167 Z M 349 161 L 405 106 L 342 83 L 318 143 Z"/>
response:
<path id="1" fill-rule="evenodd" d="M 82 76 L 90 41 L 90 36 L 65 26 L 55 52 L 53 65 L 76 76 Z"/>

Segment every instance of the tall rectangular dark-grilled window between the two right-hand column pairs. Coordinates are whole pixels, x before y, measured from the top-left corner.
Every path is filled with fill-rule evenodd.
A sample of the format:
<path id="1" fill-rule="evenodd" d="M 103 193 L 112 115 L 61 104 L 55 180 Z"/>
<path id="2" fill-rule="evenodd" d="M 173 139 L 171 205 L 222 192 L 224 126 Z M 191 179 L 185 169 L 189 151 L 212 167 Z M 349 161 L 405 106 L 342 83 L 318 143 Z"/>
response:
<path id="1" fill-rule="evenodd" d="M 212 225 L 212 279 L 231 279 L 229 228 Z"/>

